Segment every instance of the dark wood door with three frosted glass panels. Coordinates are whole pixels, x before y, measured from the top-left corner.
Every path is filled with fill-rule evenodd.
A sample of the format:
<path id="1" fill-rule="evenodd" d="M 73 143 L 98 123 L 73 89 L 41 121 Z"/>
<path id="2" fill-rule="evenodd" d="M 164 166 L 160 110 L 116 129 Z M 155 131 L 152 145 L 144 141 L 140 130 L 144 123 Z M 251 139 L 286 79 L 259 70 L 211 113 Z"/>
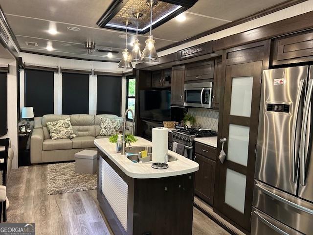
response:
<path id="1" fill-rule="evenodd" d="M 218 210 L 250 231 L 262 61 L 226 67 Z"/>

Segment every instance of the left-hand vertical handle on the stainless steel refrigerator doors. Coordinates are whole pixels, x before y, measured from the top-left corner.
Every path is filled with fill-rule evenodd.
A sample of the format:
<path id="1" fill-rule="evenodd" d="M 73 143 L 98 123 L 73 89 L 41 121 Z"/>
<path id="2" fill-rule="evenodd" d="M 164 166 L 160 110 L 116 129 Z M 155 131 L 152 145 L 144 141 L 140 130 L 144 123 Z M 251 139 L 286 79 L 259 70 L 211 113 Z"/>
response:
<path id="1" fill-rule="evenodd" d="M 301 101 L 301 95 L 303 92 L 304 87 L 304 79 L 301 79 L 300 85 L 297 92 L 297 98 L 295 102 L 295 110 L 299 110 L 299 105 Z M 296 112 L 295 117 L 293 118 L 292 123 L 292 140 L 291 140 L 291 151 L 292 151 L 292 159 L 291 159 L 291 176 L 292 176 L 292 182 L 296 181 L 296 172 L 295 172 L 295 139 L 296 139 L 296 129 L 297 129 L 297 122 L 298 122 L 298 112 Z"/>

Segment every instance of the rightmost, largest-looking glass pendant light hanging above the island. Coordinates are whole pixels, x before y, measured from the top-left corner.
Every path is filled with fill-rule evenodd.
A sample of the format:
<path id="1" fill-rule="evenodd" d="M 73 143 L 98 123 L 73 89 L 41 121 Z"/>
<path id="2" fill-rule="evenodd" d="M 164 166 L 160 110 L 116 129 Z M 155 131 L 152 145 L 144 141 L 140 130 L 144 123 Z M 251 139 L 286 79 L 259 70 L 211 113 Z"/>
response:
<path id="1" fill-rule="evenodd" d="M 155 47 L 155 40 L 153 40 L 152 36 L 152 8 L 157 4 L 157 0 L 147 0 L 147 5 L 150 6 L 150 35 L 146 40 L 146 47 L 143 49 L 141 54 L 142 62 L 149 62 L 155 63 L 159 62 L 156 47 Z"/>

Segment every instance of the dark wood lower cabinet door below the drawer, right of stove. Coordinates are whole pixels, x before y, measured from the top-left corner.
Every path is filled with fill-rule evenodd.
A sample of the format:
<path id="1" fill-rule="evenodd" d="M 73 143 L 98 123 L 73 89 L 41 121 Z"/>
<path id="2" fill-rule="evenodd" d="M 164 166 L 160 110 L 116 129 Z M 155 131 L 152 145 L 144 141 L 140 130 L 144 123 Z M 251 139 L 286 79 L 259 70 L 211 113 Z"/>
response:
<path id="1" fill-rule="evenodd" d="M 195 194 L 206 203 L 213 205 L 215 161 L 195 155 L 199 170 L 195 175 Z"/>

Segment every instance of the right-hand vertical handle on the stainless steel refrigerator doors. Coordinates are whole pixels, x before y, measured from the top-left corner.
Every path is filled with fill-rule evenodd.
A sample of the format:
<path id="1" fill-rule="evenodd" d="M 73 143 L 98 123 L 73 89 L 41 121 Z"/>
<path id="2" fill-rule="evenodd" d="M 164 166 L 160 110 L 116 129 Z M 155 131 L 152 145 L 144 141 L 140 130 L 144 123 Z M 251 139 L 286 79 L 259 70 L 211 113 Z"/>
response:
<path id="1" fill-rule="evenodd" d="M 304 103 L 304 111 L 303 111 L 303 118 L 302 118 L 302 127 L 301 127 L 301 143 L 300 143 L 300 184 L 302 186 L 306 185 L 306 159 L 308 153 L 306 152 L 308 142 L 306 141 L 307 136 L 307 124 L 308 124 L 308 116 L 309 110 L 311 105 L 311 97 L 313 92 L 313 79 L 309 80 L 308 85 L 308 92 Z"/>

